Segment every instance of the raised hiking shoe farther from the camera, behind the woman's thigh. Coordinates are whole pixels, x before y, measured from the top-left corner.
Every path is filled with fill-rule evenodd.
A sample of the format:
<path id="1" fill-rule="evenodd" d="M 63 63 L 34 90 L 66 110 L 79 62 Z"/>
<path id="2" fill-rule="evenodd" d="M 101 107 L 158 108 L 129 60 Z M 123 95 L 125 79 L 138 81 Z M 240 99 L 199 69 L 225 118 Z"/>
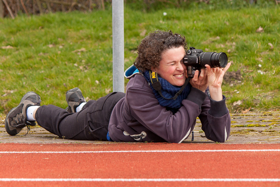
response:
<path id="1" fill-rule="evenodd" d="M 75 113 L 76 108 L 81 103 L 86 103 L 86 99 L 84 98 L 82 91 L 79 88 L 73 88 L 66 92 L 66 101 L 68 107 L 65 109 L 69 113 Z"/>

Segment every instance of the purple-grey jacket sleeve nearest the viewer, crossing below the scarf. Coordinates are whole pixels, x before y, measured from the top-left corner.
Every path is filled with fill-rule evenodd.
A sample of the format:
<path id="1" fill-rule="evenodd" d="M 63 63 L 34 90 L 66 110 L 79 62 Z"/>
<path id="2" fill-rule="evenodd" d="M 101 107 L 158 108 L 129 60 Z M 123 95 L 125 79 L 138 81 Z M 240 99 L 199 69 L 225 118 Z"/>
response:
<path id="1" fill-rule="evenodd" d="M 201 105 L 207 97 L 198 91 L 191 89 L 189 95 L 192 97 L 184 99 L 183 106 L 174 115 L 158 103 L 148 87 L 130 87 L 125 101 L 128 112 L 143 126 L 168 142 L 181 143 L 194 129 Z"/>

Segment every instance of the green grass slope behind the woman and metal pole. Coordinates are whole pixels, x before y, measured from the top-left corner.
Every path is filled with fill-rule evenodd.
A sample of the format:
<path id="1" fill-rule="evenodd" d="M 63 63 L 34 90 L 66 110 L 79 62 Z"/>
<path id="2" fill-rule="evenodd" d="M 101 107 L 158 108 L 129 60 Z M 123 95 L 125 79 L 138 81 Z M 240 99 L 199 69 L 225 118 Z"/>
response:
<path id="1" fill-rule="evenodd" d="M 143 34 L 172 30 L 183 34 L 189 46 L 226 52 L 232 62 L 228 71 L 241 71 L 241 82 L 222 86 L 231 112 L 279 109 L 279 12 L 279 6 L 146 13 L 126 7 L 125 69 L 133 64 Z M 264 32 L 256 32 L 259 26 Z M 62 108 L 73 87 L 89 99 L 104 96 L 112 91 L 112 11 L 0 18 L 0 75 L 0 113 L 15 107 L 28 91 L 40 94 L 42 104 Z M 241 104 L 234 106 L 238 100 Z"/>

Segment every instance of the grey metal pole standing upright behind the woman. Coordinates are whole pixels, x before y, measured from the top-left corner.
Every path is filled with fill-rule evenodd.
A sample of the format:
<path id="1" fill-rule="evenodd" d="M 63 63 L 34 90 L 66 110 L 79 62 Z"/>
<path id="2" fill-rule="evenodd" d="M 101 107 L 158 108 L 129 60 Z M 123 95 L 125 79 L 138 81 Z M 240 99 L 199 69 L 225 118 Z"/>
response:
<path id="1" fill-rule="evenodd" d="M 124 92 L 124 1 L 112 0 L 113 92 Z"/>

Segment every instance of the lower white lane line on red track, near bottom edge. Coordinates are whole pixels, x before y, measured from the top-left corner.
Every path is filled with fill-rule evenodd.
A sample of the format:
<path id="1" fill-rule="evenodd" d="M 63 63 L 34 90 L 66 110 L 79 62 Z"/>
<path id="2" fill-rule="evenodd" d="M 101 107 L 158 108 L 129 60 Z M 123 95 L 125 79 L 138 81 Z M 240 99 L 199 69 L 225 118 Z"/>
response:
<path id="1" fill-rule="evenodd" d="M 77 181 L 88 181 L 88 182 L 280 182 L 280 179 L 274 178 L 274 179 L 269 179 L 269 178 L 248 178 L 248 179 L 211 179 L 211 178 L 205 178 L 205 179 L 102 179 L 102 178 L 96 178 L 96 179 L 89 179 L 89 178 L 77 178 L 77 179 L 69 179 L 69 178 L 64 178 L 64 179 L 48 179 L 48 178 L 0 178 L 0 181 L 34 181 L 34 182 L 57 182 L 57 181 L 70 181 L 70 182 L 77 182 Z"/>

